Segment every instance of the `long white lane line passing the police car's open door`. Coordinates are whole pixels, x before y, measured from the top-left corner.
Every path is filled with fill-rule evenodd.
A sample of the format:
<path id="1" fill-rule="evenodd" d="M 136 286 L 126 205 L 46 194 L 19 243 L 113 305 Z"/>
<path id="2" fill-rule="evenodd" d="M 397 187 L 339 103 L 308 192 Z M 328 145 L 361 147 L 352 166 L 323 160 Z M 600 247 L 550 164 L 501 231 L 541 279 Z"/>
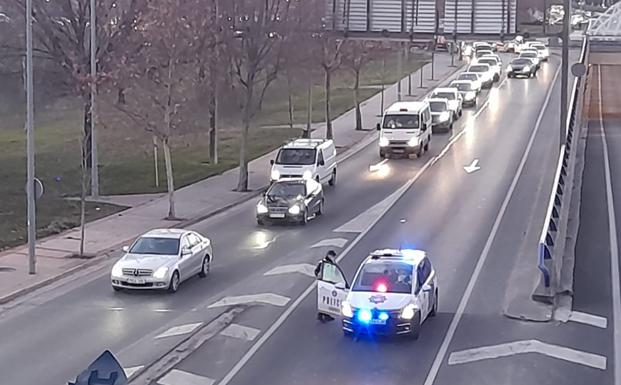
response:
<path id="1" fill-rule="evenodd" d="M 431 91 L 430 91 L 430 93 L 431 93 Z M 463 133 L 464 133 L 464 131 L 462 130 L 459 133 L 459 135 L 457 135 L 453 139 L 449 140 L 449 142 L 446 144 L 446 146 L 444 146 L 444 149 L 441 151 L 440 154 L 445 154 L 448 151 L 448 148 L 450 148 L 463 135 Z M 421 175 L 423 175 L 423 173 L 425 171 L 427 171 L 427 169 L 429 167 L 431 167 L 435 162 L 437 162 L 441 158 L 441 156 L 442 155 L 437 155 L 437 156 L 429 159 L 427 161 L 427 163 L 425 163 L 423 165 L 423 167 L 420 170 L 418 170 L 416 175 L 414 175 L 414 177 L 412 179 L 407 181 L 399 189 L 399 191 L 401 192 L 401 195 L 405 194 L 406 191 L 410 187 L 412 187 L 414 182 L 416 182 L 418 180 L 418 178 L 420 178 Z M 362 238 L 364 238 L 367 235 L 367 233 L 369 231 L 371 231 L 373 226 L 375 226 L 377 224 L 377 222 L 379 222 L 380 219 L 382 219 L 384 214 L 386 214 L 386 212 L 388 212 L 388 210 L 390 210 L 390 208 L 395 203 L 396 203 L 396 201 L 392 202 L 392 204 L 390 206 L 386 207 L 385 211 L 382 212 L 381 215 L 378 215 L 373 220 L 373 222 L 369 223 L 367 228 L 365 228 L 361 233 L 359 233 L 356 236 L 356 238 L 347 246 L 347 248 L 345 250 L 343 250 L 343 252 L 336 258 L 336 262 L 337 263 L 340 262 L 341 260 L 343 260 L 349 254 L 349 252 L 360 242 L 360 240 Z M 267 331 L 265 333 L 263 333 L 263 335 L 261 335 L 261 337 L 257 340 L 257 342 L 254 345 L 252 345 L 252 347 L 246 352 L 246 354 L 244 354 L 244 356 L 239 361 L 237 361 L 235 366 L 233 366 L 233 368 L 231 368 L 231 370 L 224 376 L 224 378 L 222 378 L 222 380 L 220 380 L 218 385 L 228 385 L 228 383 L 231 382 L 231 380 L 235 377 L 235 375 L 237 375 L 237 373 L 239 373 L 239 371 L 248 363 L 248 361 L 250 361 L 252 359 L 252 357 L 261 348 L 261 346 L 263 346 L 263 344 L 265 344 L 265 342 L 267 342 L 267 340 L 269 340 L 270 337 L 274 333 L 276 333 L 278 328 L 280 328 L 282 326 L 282 324 L 285 323 L 287 318 L 289 318 L 289 316 L 295 311 L 295 309 L 297 309 L 297 307 L 300 305 L 300 303 L 302 303 L 302 301 L 304 301 L 304 299 L 306 299 L 306 297 L 308 297 L 310 295 L 310 293 L 312 293 L 313 290 L 315 290 L 316 285 L 317 285 L 316 282 L 311 283 L 306 288 L 306 290 L 304 290 L 304 292 L 302 294 L 300 294 L 300 296 L 298 298 L 296 298 L 295 301 L 293 301 L 293 303 L 287 309 L 285 309 L 285 311 L 280 315 L 280 317 L 278 317 L 276 322 L 274 322 L 272 324 L 272 326 L 270 326 L 270 328 L 267 329 Z"/>

